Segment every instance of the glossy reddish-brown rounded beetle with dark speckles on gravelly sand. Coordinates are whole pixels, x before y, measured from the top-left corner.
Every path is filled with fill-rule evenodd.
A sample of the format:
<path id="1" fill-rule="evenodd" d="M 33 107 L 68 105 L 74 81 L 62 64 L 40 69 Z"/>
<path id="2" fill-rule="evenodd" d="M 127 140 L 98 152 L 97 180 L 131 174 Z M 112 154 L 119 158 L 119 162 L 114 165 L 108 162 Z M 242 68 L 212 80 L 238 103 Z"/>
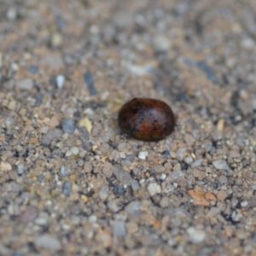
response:
<path id="1" fill-rule="evenodd" d="M 120 109 L 119 126 L 130 137 L 143 141 L 158 141 L 173 131 L 175 117 L 165 102 L 134 98 Z"/>

